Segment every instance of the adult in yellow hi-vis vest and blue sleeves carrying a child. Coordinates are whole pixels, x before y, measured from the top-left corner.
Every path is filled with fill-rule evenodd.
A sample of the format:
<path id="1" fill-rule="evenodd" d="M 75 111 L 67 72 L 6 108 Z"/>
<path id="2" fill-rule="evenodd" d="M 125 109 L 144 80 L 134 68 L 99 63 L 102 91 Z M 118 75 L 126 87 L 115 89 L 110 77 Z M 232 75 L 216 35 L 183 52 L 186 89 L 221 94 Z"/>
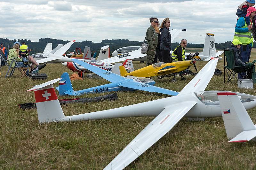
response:
<path id="1" fill-rule="evenodd" d="M 256 13 L 256 9 L 254 7 L 249 7 L 247 9 L 247 14 L 245 17 L 253 18 L 255 13 Z M 253 37 L 250 32 L 251 29 L 252 29 L 252 25 L 247 25 L 244 17 L 240 17 L 237 20 L 234 39 L 238 39 L 242 44 L 244 44 L 240 48 L 241 61 L 244 63 L 248 63 L 250 60 L 250 55 L 251 55 L 251 50 L 253 45 Z M 246 75 L 245 71 L 242 72 L 241 74 L 238 74 L 238 79 L 243 79 L 245 75 Z"/>

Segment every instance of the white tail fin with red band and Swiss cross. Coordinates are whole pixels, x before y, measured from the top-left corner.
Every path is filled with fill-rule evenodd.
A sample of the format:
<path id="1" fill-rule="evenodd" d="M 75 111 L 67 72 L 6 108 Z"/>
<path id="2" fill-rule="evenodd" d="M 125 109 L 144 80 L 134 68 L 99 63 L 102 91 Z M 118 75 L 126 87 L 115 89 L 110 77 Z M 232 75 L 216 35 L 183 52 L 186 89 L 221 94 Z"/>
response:
<path id="1" fill-rule="evenodd" d="M 35 92 L 39 123 L 60 122 L 65 117 L 52 85 L 59 80 L 60 78 L 47 81 L 27 90 Z"/>

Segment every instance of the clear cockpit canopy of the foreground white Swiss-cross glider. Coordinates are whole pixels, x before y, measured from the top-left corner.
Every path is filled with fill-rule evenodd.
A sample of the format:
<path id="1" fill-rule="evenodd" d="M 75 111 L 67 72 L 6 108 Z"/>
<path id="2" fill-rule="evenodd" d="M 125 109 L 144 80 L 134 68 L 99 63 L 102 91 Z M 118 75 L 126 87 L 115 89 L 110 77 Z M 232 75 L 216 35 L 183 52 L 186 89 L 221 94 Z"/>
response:
<path id="1" fill-rule="evenodd" d="M 203 102 L 205 105 L 218 105 L 220 104 L 217 93 L 219 92 L 228 92 L 228 91 L 201 91 L 195 92 L 196 97 Z M 242 103 L 252 102 L 256 99 L 256 96 L 248 95 L 245 93 L 232 92 L 236 93 Z"/>

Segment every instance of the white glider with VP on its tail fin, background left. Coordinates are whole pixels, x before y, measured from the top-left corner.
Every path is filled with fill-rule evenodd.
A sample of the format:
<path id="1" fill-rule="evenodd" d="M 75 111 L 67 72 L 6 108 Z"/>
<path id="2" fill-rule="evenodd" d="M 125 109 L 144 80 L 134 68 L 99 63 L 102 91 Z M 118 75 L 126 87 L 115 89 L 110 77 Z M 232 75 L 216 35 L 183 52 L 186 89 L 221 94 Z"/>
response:
<path id="1" fill-rule="evenodd" d="M 61 47 L 59 50 L 57 50 L 54 54 L 49 53 L 48 56 L 44 59 L 36 60 L 38 64 L 41 63 L 63 63 L 63 62 L 72 62 L 72 58 L 69 57 L 63 57 L 63 53 L 65 53 L 69 47 L 75 42 L 76 40 L 72 40 L 65 44 L 63 47 Z M 90 56 L 91 57 L 91 56 Z M 89 56 L 88 56 L 89 58 Z M 98 56 L 97 60 L 103 60 L 109 58 L 109 46 L 103 46 L 101 47 L 100 54 Z M 87 59 L 79 59 L 84 62 L 89 61 Z"/>

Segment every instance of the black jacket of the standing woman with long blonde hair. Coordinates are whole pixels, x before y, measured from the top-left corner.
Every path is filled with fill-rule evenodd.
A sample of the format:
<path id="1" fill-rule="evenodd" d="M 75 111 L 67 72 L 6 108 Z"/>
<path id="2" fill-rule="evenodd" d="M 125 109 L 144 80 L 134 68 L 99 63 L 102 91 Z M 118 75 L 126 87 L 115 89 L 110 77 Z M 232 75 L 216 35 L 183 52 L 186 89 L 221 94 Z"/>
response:
<path id="1" fill-rule="evenodd" d="M 160 31 L 161 31 L 160 50 L 171 51 L 171 33 L 169 32 L 169 28 L 164 27 L 164 28 L 161 28 Z"/>

